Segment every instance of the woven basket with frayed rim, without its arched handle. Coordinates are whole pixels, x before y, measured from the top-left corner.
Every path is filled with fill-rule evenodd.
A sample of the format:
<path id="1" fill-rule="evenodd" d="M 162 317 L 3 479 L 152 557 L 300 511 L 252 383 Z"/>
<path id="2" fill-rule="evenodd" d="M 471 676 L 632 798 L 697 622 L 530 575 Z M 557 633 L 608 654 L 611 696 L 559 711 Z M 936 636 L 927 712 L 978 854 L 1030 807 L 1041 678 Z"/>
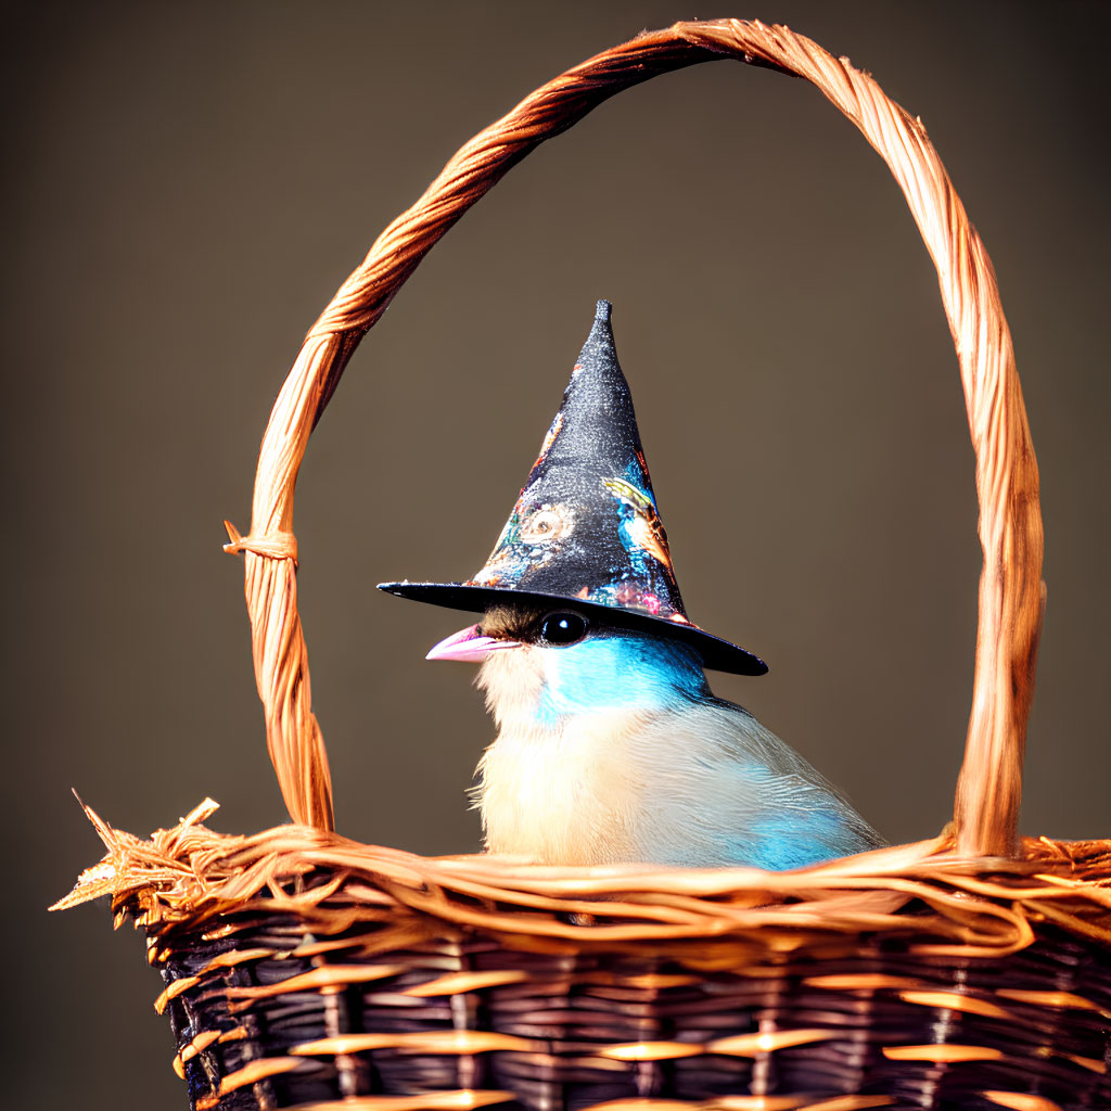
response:
<path id="1" fill-rule="evenodd" d="M 213 809 L 149 842 L 90 812 L 111 865 L 66 901 L 147 930 L 198 1111 L 1111 1105 L 1105 841 L 541 869 Z"/>

